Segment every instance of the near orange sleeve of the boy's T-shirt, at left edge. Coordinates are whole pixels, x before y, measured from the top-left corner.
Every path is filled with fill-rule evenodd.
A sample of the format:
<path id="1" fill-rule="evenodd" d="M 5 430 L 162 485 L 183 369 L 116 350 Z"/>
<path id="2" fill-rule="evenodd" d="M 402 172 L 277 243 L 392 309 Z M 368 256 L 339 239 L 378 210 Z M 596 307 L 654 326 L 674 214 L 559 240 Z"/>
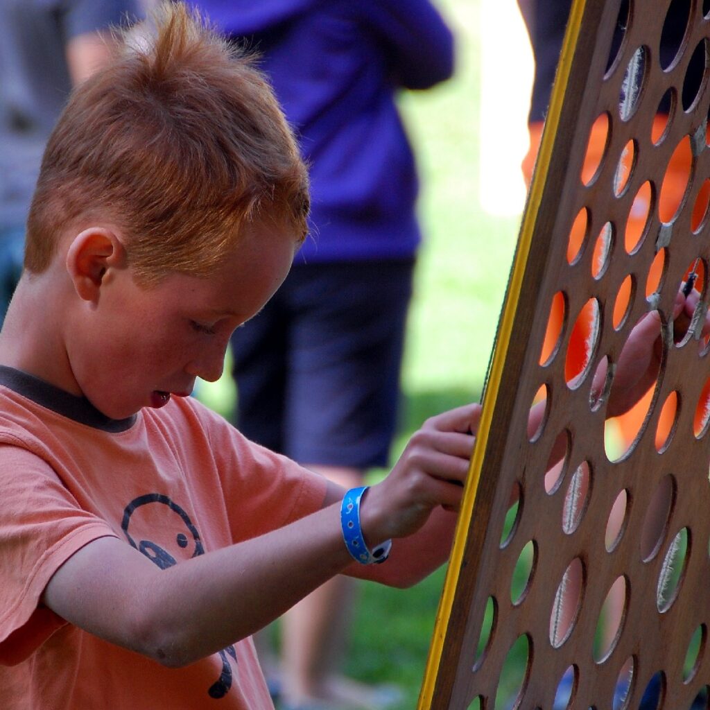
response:
<path id="1" fill-rule="evenodd" d="M 40 604 L 53 574 L 87 543 L 116 535 L 78 506 L 46 461 L 2 439 L 0 663 L 15 665 L 65 623 Z"/>

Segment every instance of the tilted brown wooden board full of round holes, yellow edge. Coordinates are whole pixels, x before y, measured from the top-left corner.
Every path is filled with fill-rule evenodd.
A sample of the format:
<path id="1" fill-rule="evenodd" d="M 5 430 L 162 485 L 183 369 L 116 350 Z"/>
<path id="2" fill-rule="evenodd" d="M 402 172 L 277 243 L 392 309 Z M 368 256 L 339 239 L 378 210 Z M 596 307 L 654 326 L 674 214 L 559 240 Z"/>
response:
<path id="1" fill-rule="evenodd" d="M 625 14 L 621 0 L 574 3 L 420 710 L 548 709 L 562 702 L 565 675 L 570 709 L 638 707 L 656 683 L 657 708 L 682 710 L 710 684 L 710 348 L 695 327 L 710 263 L 710 1 L 673 3 L 687 30 L 663 66 L 669 6 L 635 0 Z M 704 67 L 699 82 L 692 62 Z M 666 125 L 655 118 L 663 97 Z M 606 134 L 596 169 L 593 130 Z M 668 166 L 684 161 L 674 198 Z M 672 305 L 693 268 L 701 300 L 678 338 Z M 606 403 L 631 329 L 651 310 L 662 361 L 638 435 L 620 449 Z M 585 361 L 572 366 L 572 334 L 589 322 Z M 601 394 L 591 386 L 600 366 Z M 540 401 L 543 424 L 529 434 Z M 617 621 L 613 598 L 623 601 Z M 605 626 L 616 632 L 606 643 Z M 503 699 L 501 677 L 516 674 Z"/>

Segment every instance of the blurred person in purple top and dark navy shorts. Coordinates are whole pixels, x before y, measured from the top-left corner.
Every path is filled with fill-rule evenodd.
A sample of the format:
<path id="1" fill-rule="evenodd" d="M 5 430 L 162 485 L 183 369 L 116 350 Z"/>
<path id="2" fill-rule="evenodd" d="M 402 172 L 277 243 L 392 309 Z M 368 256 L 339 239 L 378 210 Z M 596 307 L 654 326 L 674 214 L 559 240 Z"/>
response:
<path id="1" fill-rule="evenodd" d="M 231 342 L 236 423 L 359 486 L 388 462 L 421 237 L 415 161 L 395 99 L 452 75 L 452 32 L 427 0 L 193 4 L 260 55 L 312 182 L 310 238 L 277 295 Z M 393 699 L 340 672 L 353 591 L 349 579 L 333 579 L 283 619 L 283 707 L 376 709 Z"/>

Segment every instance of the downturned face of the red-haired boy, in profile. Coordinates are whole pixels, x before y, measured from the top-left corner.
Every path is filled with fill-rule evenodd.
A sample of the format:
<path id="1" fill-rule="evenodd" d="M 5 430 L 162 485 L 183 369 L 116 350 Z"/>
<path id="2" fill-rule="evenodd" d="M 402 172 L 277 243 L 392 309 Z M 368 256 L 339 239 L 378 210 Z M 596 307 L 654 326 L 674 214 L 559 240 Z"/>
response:
<path id="1" fill-rule="evenodd" d="M 190 394 L 197 377 L 217 380 L 231 333 L 283 283 L 296 248 L 287 231 L 255 225 L 209 278 L 172 274 L 144 289 L 130 269 L 114 272 L 68 348 L 80 391 L 120 419 Z"/>

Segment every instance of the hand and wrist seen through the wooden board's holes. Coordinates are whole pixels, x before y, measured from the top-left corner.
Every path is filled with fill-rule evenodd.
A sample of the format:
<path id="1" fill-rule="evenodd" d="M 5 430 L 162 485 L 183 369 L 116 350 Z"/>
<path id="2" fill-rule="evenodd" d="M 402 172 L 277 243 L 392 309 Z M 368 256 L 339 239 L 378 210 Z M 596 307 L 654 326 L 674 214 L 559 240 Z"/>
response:
<path id="1" fill-rule="evenodd" d="M 695 309 L 700 300 L 700 294 L 691 290 L 684 295 L 681 288 L 673 306 L 673 326 L 675 339 L 681 339 L 687 332 Z M 636 324 L 623 346 L 614 375 L 611 393 L 607 405 L 610 417 L 622 415 L 648 392 L 658 376 L 663 346 L 660 337 L 660 316 L 657 311 L 647 313 Z M 710 315 L 706 313 L 702 323 L 701 335 L 710 333 Z M 595 378 L 594 388 L 603 387 L 606 371 L 599 372 Z"/>

